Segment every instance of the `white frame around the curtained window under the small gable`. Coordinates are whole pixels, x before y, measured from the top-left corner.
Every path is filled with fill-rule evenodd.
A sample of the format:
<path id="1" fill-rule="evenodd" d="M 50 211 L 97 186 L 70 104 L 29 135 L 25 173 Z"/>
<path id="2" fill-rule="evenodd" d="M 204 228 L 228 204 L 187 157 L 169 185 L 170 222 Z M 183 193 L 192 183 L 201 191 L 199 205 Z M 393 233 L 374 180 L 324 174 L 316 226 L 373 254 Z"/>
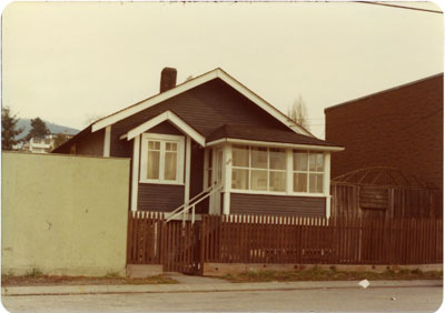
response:
<path id="1" fill-rule="evenodd" d="M 159 140 L 159 141 L 176 141 L 178 142 L 178 155 L 177 155 L 177 166 L 176 166 L 176 180 L 168 181 L 162 180 L 164 173 L 164 154 L 161 150 L 160 163 L 159 163 L 159 179 L 147 179 L 147 165 L 148 165 L 148 141 Z M 162 143 L 161 143 L 162 145 Z M 165 153 L 165 150 L 164 150 Z M 172 134 L 158 134 L 158 133 L 144 133 L 141 143 L 141 158 L 140 158 L 140 183 L 152 183 L 152 184 L 176 184 L 184 185 L 184 163 L 185 163 L 185 138 L 184 135 L 172 135 Z"/>

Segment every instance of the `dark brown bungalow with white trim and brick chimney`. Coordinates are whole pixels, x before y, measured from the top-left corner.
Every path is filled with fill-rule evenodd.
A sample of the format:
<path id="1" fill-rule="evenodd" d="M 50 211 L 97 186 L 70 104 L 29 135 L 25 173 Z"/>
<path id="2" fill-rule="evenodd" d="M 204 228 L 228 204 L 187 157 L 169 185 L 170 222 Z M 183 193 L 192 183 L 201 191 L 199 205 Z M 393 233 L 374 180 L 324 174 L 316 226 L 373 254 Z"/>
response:
<path id="1" fill-rule="evenodd" d="M 330 153 L 343 148 L 219 68 L 178 85 L 176 77 L 165 68 L 159 94 L 52 152 L 130 158 L 132 211 L 329 216 Z"/>

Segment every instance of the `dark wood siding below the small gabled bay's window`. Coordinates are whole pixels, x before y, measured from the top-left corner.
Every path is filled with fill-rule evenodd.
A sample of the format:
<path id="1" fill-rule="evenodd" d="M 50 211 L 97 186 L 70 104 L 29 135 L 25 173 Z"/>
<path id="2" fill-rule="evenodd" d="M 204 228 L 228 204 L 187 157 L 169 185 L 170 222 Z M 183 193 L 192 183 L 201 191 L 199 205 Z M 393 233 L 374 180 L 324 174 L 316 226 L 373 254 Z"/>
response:
<path id="1" fill-rule="evenodd" d="M 184 204 L 184 185 L 139 183 L 138 211 L 171 212 Z"/>

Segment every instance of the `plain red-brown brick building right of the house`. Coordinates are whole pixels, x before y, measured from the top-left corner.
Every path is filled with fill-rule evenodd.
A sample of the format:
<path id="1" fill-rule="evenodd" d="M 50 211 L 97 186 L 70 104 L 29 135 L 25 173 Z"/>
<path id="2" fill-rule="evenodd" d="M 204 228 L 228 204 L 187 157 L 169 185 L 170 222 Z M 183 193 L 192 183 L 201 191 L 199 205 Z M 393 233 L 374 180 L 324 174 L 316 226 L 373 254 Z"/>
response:
<path id="1" fill-rule="evenodd" d="M 395 166 L 443 186 L 443 73 L 325 109 L 332 178 Z"/>

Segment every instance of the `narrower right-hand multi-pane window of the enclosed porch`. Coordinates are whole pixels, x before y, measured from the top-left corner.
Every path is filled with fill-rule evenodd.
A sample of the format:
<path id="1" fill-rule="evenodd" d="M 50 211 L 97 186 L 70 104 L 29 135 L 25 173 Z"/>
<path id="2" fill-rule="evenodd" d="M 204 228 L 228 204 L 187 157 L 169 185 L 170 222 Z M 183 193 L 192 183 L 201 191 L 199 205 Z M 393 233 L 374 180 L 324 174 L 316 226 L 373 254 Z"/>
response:
<path id="1" fill-rule="evenodd" d="M 324 155 L 294 150 L 294 191 L 323 193 Z"/>

